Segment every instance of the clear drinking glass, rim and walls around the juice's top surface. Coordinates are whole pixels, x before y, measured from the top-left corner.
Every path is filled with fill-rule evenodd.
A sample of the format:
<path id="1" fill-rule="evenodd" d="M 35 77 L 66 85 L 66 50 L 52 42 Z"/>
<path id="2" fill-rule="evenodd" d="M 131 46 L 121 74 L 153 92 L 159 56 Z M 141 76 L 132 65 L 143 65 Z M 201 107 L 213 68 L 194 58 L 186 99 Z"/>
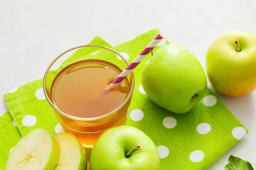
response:
<path id="1" fill-rule="evenodd" d="M 63 68 L 73 62 L 84 59 L 105 60 L 115 64 L 122 70 L 124 70 L 129 63 L 121 54 L 111 48 L 99 45 L 82 45 L 63 52 L 57 58 L 55 58 L 47 68 L 43 81 L 44 95 L 46 96 L 47 101 L 51 105 L 52 110 L 63 130 L 76 136 L 83 146 L 87 148 L 87 152 L 88 149 L 90 152 L 90 149 L 93 147 L 96 140 L 105 130 L 108 130 L 111 127 L 125 125 L 131 102 L 131 96 L 134 90 L 134 74 L 131 72 L 131 74 L 128 75 L 128 94 L 122 104 L 116 109 L 109 113 L 105 113 L 102 116 L 91 118 L 71 116 L 69 113 L 64 113 L 61 111 L 61 108 L 58 108 L 54 104 L 51 94 L 52 82 Z"/>

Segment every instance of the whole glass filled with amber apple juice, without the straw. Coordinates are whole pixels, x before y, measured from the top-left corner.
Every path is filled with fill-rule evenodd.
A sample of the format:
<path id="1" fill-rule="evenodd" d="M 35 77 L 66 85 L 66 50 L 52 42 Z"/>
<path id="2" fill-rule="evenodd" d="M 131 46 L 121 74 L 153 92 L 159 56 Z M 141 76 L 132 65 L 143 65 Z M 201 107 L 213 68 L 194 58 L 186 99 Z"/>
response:
<path id="1" fill-rule="evenodd" d="M 46 99 L 63 130 L 75 135 L 87 152 L 105 130 L 126 123 L 133 72 L 110 93 L 102 91 L 128 64 L 110 48 L 82 45 L 60 54 L 47 68 Z"/>

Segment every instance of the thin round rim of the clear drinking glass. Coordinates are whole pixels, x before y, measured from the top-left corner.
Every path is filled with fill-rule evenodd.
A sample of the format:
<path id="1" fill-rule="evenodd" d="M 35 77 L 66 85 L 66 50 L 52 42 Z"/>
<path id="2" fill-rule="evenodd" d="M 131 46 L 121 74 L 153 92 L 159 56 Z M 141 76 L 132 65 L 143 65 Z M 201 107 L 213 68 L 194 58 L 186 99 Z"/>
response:
<path id="1" fill-rule="evenodd" d="M 129 62 L 127 61 L 127 59 L 125 59 L 125 57 L 123 57 L 121 54 L 119 54 L 117 51 L 111 49 L 111 48 L 108 48 L 108 47 L 105 47 L 105 46 L 102 46 L 102 45 L 80 45 L 80 46 L 76 46 L 76 47 L 73 47 L 73 48 L 70 48 L 69 50 L 67 51 L 64 51 L 63 53 L 61 53 L 60 55 L 58 55 L 58 57 L 56 57 L 52 62 L 51 64 L 48 66 L 45 74 L 44 74 L 44 79 L 43 79 L 43 91 L 44 91 L 44 96 L 46 97 L 48 103 L 51 105 L 51 107 L 53 109 L 55 109 L 56 111 L 58 111 L 58 113 L 60 113 L 62 116 L 64 117 L 67 117 L 69 119 L 75 119 L 75 120 L 79 120 L 79 121 L 95 121 L 95 120 L 100 120 L 100 119 L 104 119 L 108 116 L 111 116 L 113 113 L 116 113 L 117 111 L 119 111 L 130 99 L 131 99 L 131 96 L 133 94 L 133 90 L 134 90 L 134 72 L 132 71 L 131 72 L 131 90 L 129 91 L 129 94 L 128 96 L 125 98 L 125 100 L 122 102 L 121 105 L 119 105 L 116 109 L 114 109 L 113 111 L 111 112 L 108 112 L 102 116 L 96 116 L 96 117 L 91 117 L 91 118 L 83 118 L 83 117 L 77 117 L 77 116 L 71 116 L 63 111 L 61 111 L 59 108 L 57 108 L 53 103 L 52 101 L 49 99 L 49 96 L 47 94 L 47 88 L 46 88 L 46 79 L 47 79 L 47 75 L 50 71 L 50 68 L 52 67 L 52 65 L 61 57 L 63 56 L 64 54 L 66 54 L 67 52 L 69 51 L 72 51 L 72 50 L 75 50 L 77 48 L 83 48 L 83 47 L 97 47 L 97 48 L 104 48 L 106 50 L 109 50 L 109 51 L 112 51 L 113 53 L 117 54 L 119 57 L 121 57 L 125 63 L 127 65 L 129 65 Z"/>

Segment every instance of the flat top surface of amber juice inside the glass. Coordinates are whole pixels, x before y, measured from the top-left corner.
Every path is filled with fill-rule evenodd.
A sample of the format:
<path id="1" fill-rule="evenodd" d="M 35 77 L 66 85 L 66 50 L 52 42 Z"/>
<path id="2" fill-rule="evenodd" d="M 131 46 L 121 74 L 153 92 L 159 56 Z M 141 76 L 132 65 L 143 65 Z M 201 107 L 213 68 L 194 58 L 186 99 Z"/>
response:
<path id="1" fill-rule="evenodd" d="M 105 115 L 118 108 L 129 92 L 125 79 L 119 87 L 102 94 L 122 70 L 98 59 L 74 62 L 61 70 L 51 87 L 54 105 L 71 116 L 91 118 Z"/>

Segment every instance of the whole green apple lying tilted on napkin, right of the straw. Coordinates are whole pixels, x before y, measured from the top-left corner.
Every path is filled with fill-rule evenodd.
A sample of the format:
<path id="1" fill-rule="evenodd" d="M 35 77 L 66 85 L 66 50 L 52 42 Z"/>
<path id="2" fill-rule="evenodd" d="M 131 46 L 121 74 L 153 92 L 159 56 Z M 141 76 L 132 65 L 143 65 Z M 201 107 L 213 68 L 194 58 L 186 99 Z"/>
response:
<path id="1" fill-rule="evenodd" d="M 157 105 L 174 113 L 186 113 L 204 96 L 207 78 L 192 52 L 169 44 L 159 48 L 145 66 L 142 86 Z"/>

